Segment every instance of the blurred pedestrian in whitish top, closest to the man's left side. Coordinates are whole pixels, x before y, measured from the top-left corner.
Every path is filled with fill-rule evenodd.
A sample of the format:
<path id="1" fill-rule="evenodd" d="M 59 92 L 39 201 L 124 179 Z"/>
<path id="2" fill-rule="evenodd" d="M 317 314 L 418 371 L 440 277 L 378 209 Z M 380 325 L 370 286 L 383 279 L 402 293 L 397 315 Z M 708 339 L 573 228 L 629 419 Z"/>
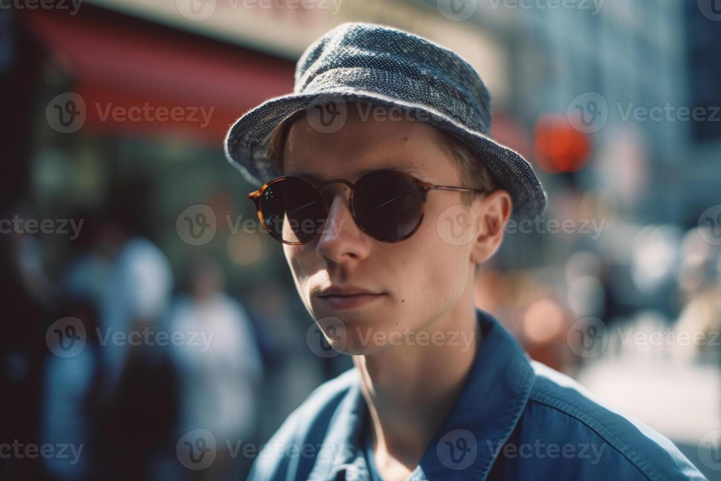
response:
<path id="1" fill-rule="evenodd" d="M 204 429 L 216 438 L 216 459 L 194 474 L 198 479 L 231 479 L 231 451 L 255 435 L 262 361 L 244 307 L 223 292 L 220 267 L 209 258 L 195 260 L 190 294 L 179 296 L 170 314 L 172 363 L 179 381 L 177 438 Z M 242 447 L 242 446 L 241 446 Z M 235 463 L 238 463 L 236 466 Z"/>

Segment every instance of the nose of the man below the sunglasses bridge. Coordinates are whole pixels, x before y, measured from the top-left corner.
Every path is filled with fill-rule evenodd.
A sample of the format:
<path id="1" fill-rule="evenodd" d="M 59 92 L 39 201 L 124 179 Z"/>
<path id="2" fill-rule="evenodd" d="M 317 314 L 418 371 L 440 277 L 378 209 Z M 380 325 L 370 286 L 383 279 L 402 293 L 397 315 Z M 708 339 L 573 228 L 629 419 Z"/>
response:
<path id="1" fill-rule="evenodd" d="M 318 255 L 337 263 L 367 257 L 370 238 L 353 221 L 348 205 L 350 187 L 341 183 L 327 185 L 323 193 L 328 217 L 319 236 Z"/>

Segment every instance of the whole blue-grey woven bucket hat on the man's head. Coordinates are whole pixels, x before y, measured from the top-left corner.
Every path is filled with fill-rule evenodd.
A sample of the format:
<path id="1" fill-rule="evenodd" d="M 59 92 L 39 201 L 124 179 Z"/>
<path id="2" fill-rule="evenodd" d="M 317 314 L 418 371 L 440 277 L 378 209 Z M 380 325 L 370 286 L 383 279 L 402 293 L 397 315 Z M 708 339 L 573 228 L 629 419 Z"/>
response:
<path id="1" fill-rule="evenodd" d="M 510 193 L 514 219 L 543 211 L 546 196 L 534 169 L 490 138 L 490 93 L 452 50 L 394 27 L 345 22 L 304 50 L 294 81 L 292 93 L 248 110 L 226 135 L 227 159 L 252 185 L 282 175 L 267 150 L 285 120 L 305 111 L 311 126 L 332 132 L 345 122 L 349 103 L 371 103 L 427 121 L 466 145 Z"/>

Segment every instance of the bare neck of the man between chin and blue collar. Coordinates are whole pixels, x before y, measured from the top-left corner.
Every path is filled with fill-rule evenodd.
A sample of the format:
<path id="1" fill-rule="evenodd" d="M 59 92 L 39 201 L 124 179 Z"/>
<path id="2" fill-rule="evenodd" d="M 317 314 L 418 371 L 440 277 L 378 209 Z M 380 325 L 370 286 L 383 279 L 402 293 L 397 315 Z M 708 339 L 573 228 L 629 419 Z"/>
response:
<path id="1" fill-rule="evenodd" d="M 353 356 L 376 456 L 411 470 L 456 402 L 476 356 L 480 331 L 471 294 L 429 322 L 426 332 L 426 345 Z M 434 332 L 443 334 L 443 342 L 433 340 Z"/>

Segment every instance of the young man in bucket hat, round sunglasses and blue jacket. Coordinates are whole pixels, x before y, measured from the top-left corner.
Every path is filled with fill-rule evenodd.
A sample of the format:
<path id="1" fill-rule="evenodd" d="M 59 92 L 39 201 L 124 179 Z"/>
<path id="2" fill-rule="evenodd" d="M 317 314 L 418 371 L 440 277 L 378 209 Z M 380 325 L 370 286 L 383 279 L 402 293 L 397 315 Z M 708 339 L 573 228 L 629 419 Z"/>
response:
<path id="1" fill-rule="evenodd" d="M 703 479 L 474 307 L 505 223 L 544 208 L 490 118 L 455 53 L 346 23 L 301 56 L 293 94 L 231 127 L 226 154 L 262 184 L 250 198 L 298 294 L 355 365 L 288 417 L 250 479 Z"/>

